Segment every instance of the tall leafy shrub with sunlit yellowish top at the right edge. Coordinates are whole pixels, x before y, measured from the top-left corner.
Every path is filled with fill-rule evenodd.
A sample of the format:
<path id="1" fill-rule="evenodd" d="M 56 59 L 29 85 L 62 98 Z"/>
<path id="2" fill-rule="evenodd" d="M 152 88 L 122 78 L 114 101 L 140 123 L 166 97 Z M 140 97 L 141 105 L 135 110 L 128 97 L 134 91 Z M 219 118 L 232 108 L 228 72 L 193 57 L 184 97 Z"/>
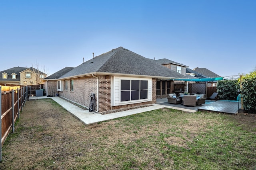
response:
<path id="1" fill-rule="evenodd" d="M 256 71 L 242 77 L 241 97 L 244 109 L 248 113 L 256 113 Z"/>

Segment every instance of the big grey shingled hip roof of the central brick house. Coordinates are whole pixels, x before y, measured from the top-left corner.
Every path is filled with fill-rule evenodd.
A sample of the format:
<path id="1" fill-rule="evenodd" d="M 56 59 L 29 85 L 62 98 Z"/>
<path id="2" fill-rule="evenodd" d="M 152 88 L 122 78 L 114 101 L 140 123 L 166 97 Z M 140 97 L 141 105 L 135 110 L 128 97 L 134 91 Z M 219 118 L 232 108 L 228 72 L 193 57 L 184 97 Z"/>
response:
<path id="1" fill-rule="evenodd" d="M 80 64 L 60 76 L 59 79 L 96 73 L 143 75 L 158 78 L 186 78 L 186 76 L 156 64 L 154 61 L 146 59 L 128 49 L 118 47 Z"/>

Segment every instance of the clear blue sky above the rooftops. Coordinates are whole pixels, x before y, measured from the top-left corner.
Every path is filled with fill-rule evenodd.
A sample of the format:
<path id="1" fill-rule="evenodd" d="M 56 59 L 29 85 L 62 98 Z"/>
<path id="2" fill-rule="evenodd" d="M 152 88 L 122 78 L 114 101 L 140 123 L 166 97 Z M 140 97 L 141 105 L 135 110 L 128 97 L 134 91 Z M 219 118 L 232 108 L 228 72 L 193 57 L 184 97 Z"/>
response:
<path id="1" fill-rule="evenodd" d="M 0 0 L 0 71 L 37 65 L 50 75 L 118 47 L 220 76 L 248 74 L 256 1 Z"/>

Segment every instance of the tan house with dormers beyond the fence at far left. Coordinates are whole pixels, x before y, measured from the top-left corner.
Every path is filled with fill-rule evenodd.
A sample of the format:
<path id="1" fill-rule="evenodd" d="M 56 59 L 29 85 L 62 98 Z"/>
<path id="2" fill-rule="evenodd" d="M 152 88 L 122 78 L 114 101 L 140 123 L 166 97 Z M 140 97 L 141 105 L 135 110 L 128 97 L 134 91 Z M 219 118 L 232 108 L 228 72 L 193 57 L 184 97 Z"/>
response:
<path id="1" fill-rule="evenodd" d="M 30 67 L 13 67 L 0 72 L 0 83 L 21 86 L 41 84 L 46 74 Z"/>

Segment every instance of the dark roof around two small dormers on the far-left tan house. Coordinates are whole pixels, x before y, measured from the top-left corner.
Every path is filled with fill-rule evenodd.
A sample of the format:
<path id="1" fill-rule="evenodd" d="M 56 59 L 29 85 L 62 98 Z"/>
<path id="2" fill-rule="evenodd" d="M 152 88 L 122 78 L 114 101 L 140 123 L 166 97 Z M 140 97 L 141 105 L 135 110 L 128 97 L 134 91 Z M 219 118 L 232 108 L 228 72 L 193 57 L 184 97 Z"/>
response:
<path id="1" fill-rule="evenodd" d="M 11 75 L 12 73 L 16 74 L 16 79 L 12 79 L 12 76 L 8 76 L 7 79 L 3 79 L 2 76 L 0 76 L 0 81 L 20 81 L 20 72 L 30 69 L 31 71 L 33 71 L 33 67 L 13 67 L 13 68 L 9 68 L 7 70 L 3 70 L 0 71 L 0 74 L 6 72 L 8 75 Z M 35 69 L 36 70 L 36 69 Z"/>

